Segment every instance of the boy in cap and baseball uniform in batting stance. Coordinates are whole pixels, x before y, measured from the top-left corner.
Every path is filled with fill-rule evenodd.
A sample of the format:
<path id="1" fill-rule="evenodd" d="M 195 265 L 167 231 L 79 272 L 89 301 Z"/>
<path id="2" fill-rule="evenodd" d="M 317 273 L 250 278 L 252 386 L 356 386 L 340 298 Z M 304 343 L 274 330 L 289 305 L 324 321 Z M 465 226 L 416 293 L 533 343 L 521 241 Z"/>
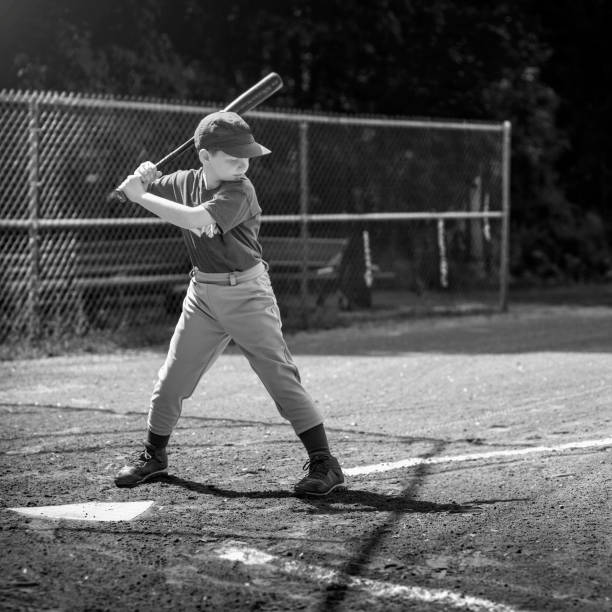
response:
<path id="1" fill-rule="evenodd" d="M 283 338 L 258 242 L 261 208 L 246 177 L 249 160 L 270 151 L 255 142 L 241 117 L 226 111 L 204 117 L 194 142 L 202 164 L 197 170 L 161 176 L 145 162 L 119 187 L 132 202 L 182 229 L 193 269 L 151 397 L 144 450 L 115 484 L 132 487 L 167 473 L 166 446 L 183 400 L 234 340 L 308 452 L 308 474 L 295 485 L 296 494 L 327 495 L 344 485 L 344 476 Z"/>

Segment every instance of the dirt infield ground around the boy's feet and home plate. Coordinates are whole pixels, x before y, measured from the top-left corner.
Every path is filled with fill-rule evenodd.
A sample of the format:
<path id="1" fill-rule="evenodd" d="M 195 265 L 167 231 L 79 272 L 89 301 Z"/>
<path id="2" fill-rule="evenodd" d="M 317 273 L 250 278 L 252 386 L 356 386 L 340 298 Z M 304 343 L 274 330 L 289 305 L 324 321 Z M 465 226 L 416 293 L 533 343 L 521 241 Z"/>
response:
<path id="1" fill-rule="evenodd" d="M 114 472 L 163 353 L 0 363 L 3 610 L 612 608 L 612 308 L 518 306 L 288 338 L 349 490 L 235 350 L 185 403 L 170 475 Z M 14 507 L 150 500 L 131 521 Z"/>

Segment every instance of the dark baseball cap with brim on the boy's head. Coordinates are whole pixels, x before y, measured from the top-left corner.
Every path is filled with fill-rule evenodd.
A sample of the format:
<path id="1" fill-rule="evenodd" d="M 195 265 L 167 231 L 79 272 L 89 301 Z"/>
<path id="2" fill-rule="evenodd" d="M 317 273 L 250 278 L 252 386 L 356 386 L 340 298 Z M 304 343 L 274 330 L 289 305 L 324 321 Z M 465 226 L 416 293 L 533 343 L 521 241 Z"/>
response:
<path id="1" fill-rule="evenodd" d="M 234 157 L 260 157 L 270 149 L 255 142 L 249 124 L 236 113 L 218 111 L 206 115 L 193 135 L 196 150 L 221 150 Z"/>

